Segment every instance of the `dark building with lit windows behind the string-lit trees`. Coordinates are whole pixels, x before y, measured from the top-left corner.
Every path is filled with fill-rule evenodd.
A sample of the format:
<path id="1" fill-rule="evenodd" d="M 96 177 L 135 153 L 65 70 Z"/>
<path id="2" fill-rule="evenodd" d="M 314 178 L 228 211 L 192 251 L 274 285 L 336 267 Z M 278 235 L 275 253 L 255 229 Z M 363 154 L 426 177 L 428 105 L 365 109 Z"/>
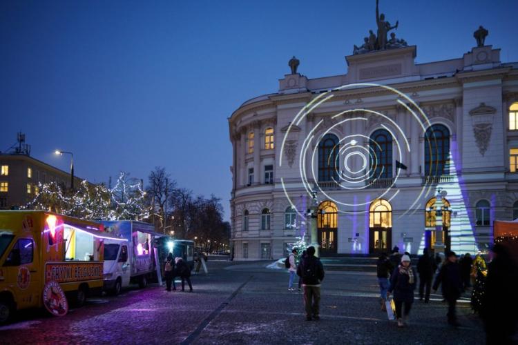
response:
<path id="1" fill-rule="evenodd" d="M 57 182 L 70 187 L 70 172 L 59 170 L 29 155 L 0 154 L 0 210 L 25 206 L 39 193 L 38 184 Z M 74 178 L 75 186 L 83 179 Z"/>

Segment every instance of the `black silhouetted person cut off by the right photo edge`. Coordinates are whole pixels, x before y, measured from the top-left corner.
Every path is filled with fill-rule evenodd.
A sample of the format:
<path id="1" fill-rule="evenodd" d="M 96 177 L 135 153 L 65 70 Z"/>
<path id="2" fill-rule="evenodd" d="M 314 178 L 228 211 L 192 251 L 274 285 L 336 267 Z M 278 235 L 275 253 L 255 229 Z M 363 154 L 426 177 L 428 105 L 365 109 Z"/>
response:
<path id="1" fill-rule="evenodd" d="M 512 337 L 518 322 L 517 262 L 502 244 L 495 244 L 492 257 L 480 310 L 486 328 L 486 344 L 515 344 Z"/>

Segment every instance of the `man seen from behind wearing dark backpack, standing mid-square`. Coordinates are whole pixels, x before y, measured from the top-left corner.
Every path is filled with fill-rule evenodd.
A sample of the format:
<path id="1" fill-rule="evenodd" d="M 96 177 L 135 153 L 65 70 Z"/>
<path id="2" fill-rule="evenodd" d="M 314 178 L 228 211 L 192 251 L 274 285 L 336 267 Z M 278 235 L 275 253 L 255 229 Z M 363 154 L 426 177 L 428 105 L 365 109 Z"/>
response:
<path id="1" fill-rule="evenodd" d="M 303 279 L 304 306 L 306 319 L 320 319 L 320 282 L 324 279 L 324 266 L 318 257 L 315 257 L 315 247 L 306 249 L 307 256 L 297 267 L 297 275 Z"/>

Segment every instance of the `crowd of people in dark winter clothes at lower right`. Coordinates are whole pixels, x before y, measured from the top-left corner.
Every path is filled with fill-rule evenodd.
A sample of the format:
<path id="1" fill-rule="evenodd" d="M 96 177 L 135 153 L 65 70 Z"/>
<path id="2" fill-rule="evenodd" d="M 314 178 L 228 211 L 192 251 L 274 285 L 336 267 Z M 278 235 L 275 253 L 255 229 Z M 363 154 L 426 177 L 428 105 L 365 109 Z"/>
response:
<path id="1" fill-rule="evenodd" d="M 480 254 L 474 259 L 470 254 L 462 255 L 459 260 L 453 251 L 432 257 L 425 248 L 417 264 L 419 299 L 428 303 L 430 290 L 436 291 L 441 286 L 443 299 L 448 303 L 448 324 L 459 326 L 457 299 L 473 286 L 472 311 L 483 320 L 488 344 L 511 344 L 518 322 L 518 296 L 514 291 L 518 284 L 517 264 L 508 247 L 502 244 L 492 248 L 490 258 L 490 264 L 486 266 Z M 382 253 L 378 258 L 381 308 L 386 310 L 385 302 L 393 294 L 399 327 L 407 324 L 418 276 L 412 268 L 410 254 L 400 255 L 397 247 L 390 256 Z"/>

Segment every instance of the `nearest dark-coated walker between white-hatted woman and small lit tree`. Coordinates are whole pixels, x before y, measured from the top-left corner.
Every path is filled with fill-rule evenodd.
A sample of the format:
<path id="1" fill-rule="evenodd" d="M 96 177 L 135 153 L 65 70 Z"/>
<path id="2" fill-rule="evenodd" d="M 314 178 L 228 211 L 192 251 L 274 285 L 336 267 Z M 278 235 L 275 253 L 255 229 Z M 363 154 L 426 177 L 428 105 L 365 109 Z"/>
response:
<path id="1" fill-rule="evenodd" d="M 448 252 L 439 275 L 435 278 L 434 291 L 437 291 L 439 285 L 441 285 L 444 299 L 448 302 L 448 324 L 457 327 L 459 322 L 457 321 L 455 306 L 457 305 L 457 299 L 461 297 L 462 279 L 461 267 L 457 263 L 455 252 Z"/>

